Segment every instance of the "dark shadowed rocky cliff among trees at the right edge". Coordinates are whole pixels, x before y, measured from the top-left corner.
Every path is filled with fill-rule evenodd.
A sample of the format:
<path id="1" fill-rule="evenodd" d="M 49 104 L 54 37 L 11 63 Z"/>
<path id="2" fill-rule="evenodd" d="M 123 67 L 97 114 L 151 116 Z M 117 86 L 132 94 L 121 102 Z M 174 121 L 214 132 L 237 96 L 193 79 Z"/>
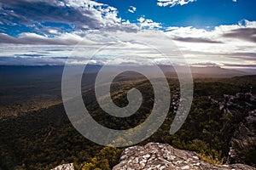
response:
<path id="1" fill-rule="evenodd" d="M 223 112 L 223 116 L 242 116 L 236 124 L 236 131 L 229 139 L 229 163 L 244 163 L 246 151 L 256 143 L 256 99 L 251 93 L 224 94 L 224 100 L 208 97 L 210 103 Z M 234 126 L 234 125 L 233 125 Z M 224 122 L 222 133 L 229 132 L 230 122 Z"/>

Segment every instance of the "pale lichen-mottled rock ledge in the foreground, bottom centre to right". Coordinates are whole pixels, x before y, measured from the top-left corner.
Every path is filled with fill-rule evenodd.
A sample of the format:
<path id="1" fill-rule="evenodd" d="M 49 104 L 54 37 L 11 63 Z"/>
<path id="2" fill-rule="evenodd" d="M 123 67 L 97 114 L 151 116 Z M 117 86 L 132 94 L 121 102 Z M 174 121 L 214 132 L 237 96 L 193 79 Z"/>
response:
<path id="1" fill-rule="evenodd" d="M 256 170 L 243 164 L 212 165 L 201 161 L 195 152 L 177 150 L 169 144 L 148 143 L 144 146 L 132 146 L 123 151 L 120 162 L 113 170 L 125 169 L 222 169 Z"/>

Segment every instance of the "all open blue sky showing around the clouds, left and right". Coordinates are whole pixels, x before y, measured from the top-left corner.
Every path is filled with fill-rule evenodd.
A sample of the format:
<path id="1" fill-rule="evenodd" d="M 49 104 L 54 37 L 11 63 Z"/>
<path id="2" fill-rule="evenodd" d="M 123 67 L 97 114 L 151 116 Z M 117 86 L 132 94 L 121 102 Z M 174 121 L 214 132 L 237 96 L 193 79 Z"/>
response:
<path id="1" fill-rule="evenodd" d="M 4 16 L 3 13 L 5 11 L 15 11 L 16 6 L 13 5 L 15 7 L 12 7 L 11 5 L 5 5 L 3 0 L 0 2 L 3 7 L 0 16 L 3 20 L 6 20 L 1 26 L 1 32 L 12 37 L 18 37 L 22 32 L 41 33 L 40 31 L 35 30 L 32 26 L 26 26 L 25 23 L 19 23 L 19 18 L 8 19 L 7 16 Z M 155 0 L 97 0 L 96 2 L 108 4 L 109 6 L 117 8 L 117 16 L 123 20 L 129 20 L 131 23 L 137 23 L 137 19 L 144 17 L 154 20 L 154 22 L 158 22 L 164 27 L 193 26 L 195 28 L 212 29 L 214 26 L 232 25 L 237 24 L 241 20 L 256 19 L 256 13 L 254 12 L 256 5 L 253 0 L 237 0 L 236 2 L 233 0 L 197 0 L 184 5 L 177 3 L 173 7 L 171 7 L 171 5 L 160 7 Z M 23 2 L 20 1 L 20 3 Z M 132 7 L 136 8 L 133 13 L 128 11 L 128 9 L 131 9 Z M 29 10 L 30 8 L 32 7 L 24 7 L 24 10 Z M 54 10 L 54 8 L 49 10 Z M 68 7 L 61 8 L 61 13 L 64 14 L 67 10 Z M 26 17 L 26 12 L 21 11 L 22 8 L 19 7 L 15 12 L 20 14 L 20 16 L 23 15 L 23 17 Z M 40 10 L 37 12 L 40 14 Z M 61 31 L 73 31 L 73 24 L 68 23 L 67 21 L 55 20 L 54 22 L 51 22 L 47 19 L 38 20 L 37 15 L 34 15 L 34 19 L 32 20 L 34 20 L 34 25 L 42 25 L 41 28 L 44 26 L 56 26 L 61 29 Z"/>

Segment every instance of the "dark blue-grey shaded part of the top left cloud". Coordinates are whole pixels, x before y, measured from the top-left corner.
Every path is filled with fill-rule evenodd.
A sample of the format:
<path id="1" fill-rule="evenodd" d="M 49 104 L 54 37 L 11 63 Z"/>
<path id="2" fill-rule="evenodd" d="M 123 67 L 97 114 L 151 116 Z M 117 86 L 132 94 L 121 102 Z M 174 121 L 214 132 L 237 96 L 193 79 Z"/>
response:
<path id="1" fill-rule="evenodd" d="M 5 14 L 0 15 L 3 22 L 33 25 L 38 22 L 63 22 L 75 24 L 79 29 L 97 29 L 102 27 L 102 22 L 96 20 L 95 14 L 88 8 L 73 8 L 67 5 L 57 5 L 54 1 L 28 1 L 15 0 L 3 1 L 2 8 Z M 64 3 L 65 4 L 65 3 Z"/>

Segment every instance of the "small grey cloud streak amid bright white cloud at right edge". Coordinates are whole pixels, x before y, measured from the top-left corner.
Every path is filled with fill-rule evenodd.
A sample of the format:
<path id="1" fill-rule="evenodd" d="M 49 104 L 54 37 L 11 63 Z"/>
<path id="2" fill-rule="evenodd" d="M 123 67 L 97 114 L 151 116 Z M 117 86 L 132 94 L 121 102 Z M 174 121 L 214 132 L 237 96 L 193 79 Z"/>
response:
<path id="1" fill-rule="evenodd" d="M 223 37 L 237 38 L 247 40 L 249 42 L 256 42 L 256 28 L 239 28 L 232 30 L 229 33 L 223 34 Z"/>

